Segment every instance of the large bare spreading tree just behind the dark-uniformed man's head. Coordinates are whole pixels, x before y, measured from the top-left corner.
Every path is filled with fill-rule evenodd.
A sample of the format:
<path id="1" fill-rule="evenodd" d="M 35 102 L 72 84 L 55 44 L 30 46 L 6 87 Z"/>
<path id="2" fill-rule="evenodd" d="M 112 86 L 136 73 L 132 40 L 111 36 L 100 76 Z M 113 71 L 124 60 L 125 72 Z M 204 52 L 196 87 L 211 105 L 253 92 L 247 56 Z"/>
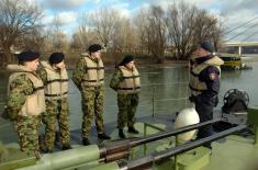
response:
<path id="1" fill-rule="evenodd" d="M 197 44 L 206 39 L 216 42 L 221 36 L 214 15 L 184 2 L 170 7 L 167 24 L 175 57 L 180 59 L 188 59 Z"/>

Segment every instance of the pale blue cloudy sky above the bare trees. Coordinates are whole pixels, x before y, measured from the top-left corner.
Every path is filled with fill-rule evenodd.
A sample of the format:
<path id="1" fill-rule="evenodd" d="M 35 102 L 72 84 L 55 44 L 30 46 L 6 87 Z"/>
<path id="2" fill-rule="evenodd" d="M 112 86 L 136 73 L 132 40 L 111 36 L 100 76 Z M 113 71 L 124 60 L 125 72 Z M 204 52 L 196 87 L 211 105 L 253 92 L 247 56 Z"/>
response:
<path id="1" fill-rule="evenodd" d="M 42 5 L 44 11 L 43 23 L 49 25 L 54 15 L 59 16 L 63 31 L 72 34 L 78 26 L 78 18 L 82 12 L 92 12 L 103 7 L 119 9 L 127 18 L 133 16 L 142 7 L 158 4 L 167 8 L 172 1 L 179 0 L 30 0 Z M 233 41 L 258 42 L 258 0 L 184 0 L 198 8 L 206 9 L 212 13 L 222 15 L 222 21 L 227 31 L 244 24 L 226 35 L 233 38 L 245 31 L 245 34 L 236 36 Z M 250 21 L 245 24 L 247 21 Z"/>

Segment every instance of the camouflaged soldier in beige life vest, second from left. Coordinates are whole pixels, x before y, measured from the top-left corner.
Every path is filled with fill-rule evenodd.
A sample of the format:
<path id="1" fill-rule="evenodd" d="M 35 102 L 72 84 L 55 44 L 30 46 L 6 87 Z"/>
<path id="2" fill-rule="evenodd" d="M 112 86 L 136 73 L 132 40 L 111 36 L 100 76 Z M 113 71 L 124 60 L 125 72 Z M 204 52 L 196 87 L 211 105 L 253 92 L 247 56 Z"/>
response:
<path id="1" fill-rule="evenodd" d="M 48 63 L 42 61 L 43 69 L 40 70 L 44 86 L 46 99 L 46 112 L 43 114 L 42 122 L 45 127 L 44 152 L 53 152 L 56 123 L 58 122 L 60 132 L 61 149 L 70 149 L 70 131 L 68 121 L 68 76 L 64 63 L 63 53 L 53 53 Z"/>

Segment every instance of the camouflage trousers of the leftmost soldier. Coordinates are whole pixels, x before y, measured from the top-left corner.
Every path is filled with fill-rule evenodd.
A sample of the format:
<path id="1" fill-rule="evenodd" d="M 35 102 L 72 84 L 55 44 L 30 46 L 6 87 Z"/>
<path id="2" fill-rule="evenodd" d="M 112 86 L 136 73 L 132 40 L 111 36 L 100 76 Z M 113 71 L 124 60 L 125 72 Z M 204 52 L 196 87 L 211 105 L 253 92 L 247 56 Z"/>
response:
<path id="1" fill-rule="evenodd" d="M 13 122 L 18 132 L 21 151 L 38 151 L 38 128 L 41 116 L 18 116 Z"/>

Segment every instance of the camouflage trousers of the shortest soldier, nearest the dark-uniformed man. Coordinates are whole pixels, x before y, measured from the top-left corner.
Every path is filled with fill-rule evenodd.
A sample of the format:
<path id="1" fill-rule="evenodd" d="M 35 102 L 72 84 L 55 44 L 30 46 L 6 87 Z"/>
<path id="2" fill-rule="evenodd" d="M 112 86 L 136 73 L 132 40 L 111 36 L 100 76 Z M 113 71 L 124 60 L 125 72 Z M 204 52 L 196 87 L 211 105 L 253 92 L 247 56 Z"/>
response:
<path id="1" fill-rule="evenodd" d="M 117 128 L 134 126 L 135 113 L 138 106 L 138 94 L 117 94 L 119 115 Z"/>

